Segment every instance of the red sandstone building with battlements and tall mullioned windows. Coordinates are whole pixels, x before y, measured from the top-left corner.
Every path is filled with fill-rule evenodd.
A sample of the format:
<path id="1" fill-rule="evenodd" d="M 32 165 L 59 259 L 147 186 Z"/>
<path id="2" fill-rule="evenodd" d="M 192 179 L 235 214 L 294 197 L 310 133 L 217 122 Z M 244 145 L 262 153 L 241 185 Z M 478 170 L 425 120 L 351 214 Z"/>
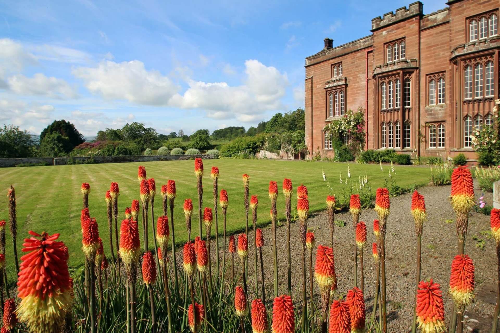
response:
<path id="1" fill-rule="evenodd" d="M 371 34 L 305 58 L 305 142 L 333 156 L 323 128 L 364 109 L 364 149 L 475 159 L 470 135 L 492 123 L 498 98 L 498 0 L 421 2 L 371 20 Z"/>

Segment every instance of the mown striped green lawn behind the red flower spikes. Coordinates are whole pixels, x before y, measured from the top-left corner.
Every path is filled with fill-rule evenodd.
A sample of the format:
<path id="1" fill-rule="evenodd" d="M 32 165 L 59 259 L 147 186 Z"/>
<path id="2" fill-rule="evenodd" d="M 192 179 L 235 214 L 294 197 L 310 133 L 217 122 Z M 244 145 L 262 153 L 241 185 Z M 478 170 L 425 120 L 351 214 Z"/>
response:
<path id="1" fill-rule="evenodd" d="M 194 163 L 188 161 L 158 161 L 144 163 L 114 163 L 114 164 L 86 164 L 63 165 L 28 168 L 2 168 L 0 178 L 0 219 L 8 219 L 7 189 L 10 184 L 15 188 L 17 199 L 17 247 L 19 258 L 22 256 L 22 239 L 27 237 L 29 230 L 38 233 L 46 231 L 50 234 L 60 233 L 60 240 L 65 242 L 70 251 L 69 264 L 72 267 L 83 263 L 80 231 L 80 210 L 82 182 L 90 184 L 89 209 L 90 216 L 97 219 L 100 235 L 104 244 L 104 251 L 109 256 L 109 240 L 107 234 L 107 217 L 104 194 L 112 181 L 118 182 L 120 196 L 118 198 L 119 212 L 129 207 L 132 199 L 139 199 L 139 182 L 137 181 L 137 167 L 143 165 L 147 176 L 156 180 L 155 217 L 161 212 L 160 188 L 168 179 L 176 182 L 177 198 L 175 200 L 175 240 L 184 243 L 187 239 L 182 204 L 185 198 L 193 200 L 192 233 L 198 233 L 197 192 Z M 283 178 L 291 178 L 293 188 L 304 184 L 309 191 L 310 211 L 325 208 L 325 197 L 328 194 L 321 176 L 321 168 L 333 187 L 333 193 L 341 196 L 342 187 L 339 183 L 340 171 L 345 179 L 347 165 L 342 163 L 304 162 L 304 161 L 273 161 L 273 160 L 238 160 L 220 159 L 205 160 L 205 175 L 203 177 L 203 207 L 213 208 L 211 166 L 220 170 L 218 180 L 219 191 L 225 189 L 229 196 L 227 209 L 227 232 L 233 233 L 244 228 L 243 210 L 243 183 L 241 175 L 250 175 L 250 195 L 257 195 L 259 199 L 258 223 L 268 223 L 270 202 L 267 197 L 269 180 L 278 182 L 279 197 L 277 201 L 278 217 L 284 219 L 284 197 L 281 192 Z M 428 182 L 429 170 L 426 167 L 395 166 L 396 180 L 399 186 L 422 184 Z M 350 164 L 351 177 L 357 180 L 358 175 L 368 174 L 368 180 L 373 190 L 384 184 L 388 175 L 388 167 L 380 171 L 378 164 Z M 292 196 L 292 209 L 296 204 Z M 293 213 L 292 213 L 293 214 Z M 251 213 L 250 213 L 251 218 Z M 150 219 L 150 214 L 149 214 Z M 119 222 L 119 221 L 118 221 Z M 150 225 L 150 223 L 149 223 Z M 139 227 L 141 222 L 139 221 Z M 8 229 L 6 227 L 6 229 Z M 214 227 L 212 227 L 212 234 Z M 219 208 L 219 232 L 222 232 L 221 209 Z M 12 243 L 9 231 L 7 238 L 7 272 L 9 281 L 15 276 Z M 142 236 L 142 233 L 139 233 Z M 149 248 L 153 247 L 152 231 L 150 230 Z M 114 235 L 114 233 L 113 233 Z M 114 242 L 114 240 L 113 240 Z M 142 242 L 142 239 L 141 239 Z"/>

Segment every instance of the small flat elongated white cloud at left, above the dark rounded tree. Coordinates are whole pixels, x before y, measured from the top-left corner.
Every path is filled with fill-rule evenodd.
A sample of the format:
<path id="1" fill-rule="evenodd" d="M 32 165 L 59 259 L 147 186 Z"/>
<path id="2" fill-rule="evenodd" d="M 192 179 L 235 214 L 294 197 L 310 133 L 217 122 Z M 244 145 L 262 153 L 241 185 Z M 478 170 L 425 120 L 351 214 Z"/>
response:
<path id="1" fill-rule="evenodd" d="M 47 77 L 42 73 L 26 77 L 16 74 L 8 78 L 10 90 L 20 95 L 40 95 L 51 98 L 74 98 L 76 92 L 63 79 Z"/>

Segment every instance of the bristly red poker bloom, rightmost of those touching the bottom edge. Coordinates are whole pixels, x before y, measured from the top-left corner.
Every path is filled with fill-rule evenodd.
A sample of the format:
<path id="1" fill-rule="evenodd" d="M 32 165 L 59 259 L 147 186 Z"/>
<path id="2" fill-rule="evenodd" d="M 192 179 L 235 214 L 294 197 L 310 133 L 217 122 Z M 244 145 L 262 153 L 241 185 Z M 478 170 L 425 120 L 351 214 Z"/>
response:
<path id="1" fill-rule="evenodd" d="M 444 305 L 439 285 L 432 282 L 420 281 L 416 294 L 416 316 L 418 328 L 422 332 L 443 333 Z"/>

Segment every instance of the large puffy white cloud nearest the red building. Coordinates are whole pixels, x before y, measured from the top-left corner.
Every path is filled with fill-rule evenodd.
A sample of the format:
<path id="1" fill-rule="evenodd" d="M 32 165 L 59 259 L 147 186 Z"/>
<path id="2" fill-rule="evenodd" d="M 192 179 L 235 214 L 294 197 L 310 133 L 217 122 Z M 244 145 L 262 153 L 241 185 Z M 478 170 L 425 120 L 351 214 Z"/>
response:
<path id="1" fill-rule="evenodd" d="M 239 86 L 226 82 L 206 83 L 189 80 L 183 95 L 175 94 L 170 105 L 183 109 L 201 109 L 214 119 L 236 118 L 250 122 L 265 111 L 282 109 L 280 99 L 288 84 L 286 73 L 257 60 L 245 61 L 246 78 Z"/>

